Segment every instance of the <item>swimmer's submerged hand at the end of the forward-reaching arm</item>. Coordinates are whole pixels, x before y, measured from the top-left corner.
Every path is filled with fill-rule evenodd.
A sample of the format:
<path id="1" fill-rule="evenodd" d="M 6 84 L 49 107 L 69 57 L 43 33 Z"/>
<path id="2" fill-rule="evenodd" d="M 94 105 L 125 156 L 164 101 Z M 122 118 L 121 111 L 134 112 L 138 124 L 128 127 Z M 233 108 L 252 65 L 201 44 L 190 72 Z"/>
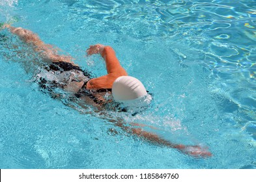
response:
<path id="1" fill-rule="evenodd" d="M 208 148 L 203 146 L 184 146 L 184 145 L 178 145 L 175 148 L 182 151 L 182 153 L 186 153 L 188 155 L 191 155 L 193 157 L 211 157 L 212 153 L 208 151 Z"/>

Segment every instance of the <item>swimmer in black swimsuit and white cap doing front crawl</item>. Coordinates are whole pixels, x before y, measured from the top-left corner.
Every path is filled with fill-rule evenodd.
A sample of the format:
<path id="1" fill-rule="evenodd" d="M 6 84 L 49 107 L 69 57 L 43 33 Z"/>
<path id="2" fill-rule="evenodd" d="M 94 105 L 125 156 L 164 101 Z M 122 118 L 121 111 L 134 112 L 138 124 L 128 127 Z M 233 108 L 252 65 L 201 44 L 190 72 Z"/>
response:
<path id="1" fill-rule="evenodd" d="M 107 75 L 92 78 L 90 73 L 84 72 L 78 65 L 72 62 L 72 57 L 58 55 L 57 49 L 49 44 L 45 44 L 33 32 L 21 27 L 12 27 L 8 24 L 3 25 L 12 34 L 16 34 L 25 44 L 31 46 L 40 58 L 44 61 L 44 72 L 36 75 L 39 85 L 53 92 L 55 88 L 61 88 L 69 92 L 74 97 L 79 98 L 79 103 L 84 105 L 93 105 L 97 109 L 104 109 L 107 103 L 117 103 L 117 107 L 147 107 L 152 97 L 147 93 L 143 84 L 134 77 L 128 76 L 128 73 L 122 68 L 112 47 L 102 44 L 91 45 L 87 49 L 87 55 L 100 54 L 106 62 Z M 45 73 L 51 73 L 51 79 L 46 79 Z M 50 82 L 50 83 L 49 83 Z M 54 93 L 53 93 L 54 94 Z M 113 101 L 104 98 L 106 94 L 113 95 Z M 58 98 L 58 94 L 55 96 Z M 212 153 L 203 146 L 185 146 L 182 144 L 173 144 L 164 138 L 143 130 L 149 125 L 138 123 L 127 123 L 121 121 L 112 121 L 115 125 L 124 129 L 124 131 L 145 138 L 149 142 L 176 148 L 183 153 L 193 157 L 210 157 Z"/>

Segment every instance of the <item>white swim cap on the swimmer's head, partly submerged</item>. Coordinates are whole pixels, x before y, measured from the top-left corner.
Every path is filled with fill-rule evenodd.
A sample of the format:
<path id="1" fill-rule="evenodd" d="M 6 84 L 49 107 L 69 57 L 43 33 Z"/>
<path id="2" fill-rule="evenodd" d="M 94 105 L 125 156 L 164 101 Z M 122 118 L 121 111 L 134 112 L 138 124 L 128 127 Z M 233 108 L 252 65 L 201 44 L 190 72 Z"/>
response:
<path id="1" fill-rule="evenodd" d="M 118 77 L 113 83 L 112 94 L 115 101 L 130 107 L 149 105 L 152 99 L 141 81 L 130 76 Z"/>

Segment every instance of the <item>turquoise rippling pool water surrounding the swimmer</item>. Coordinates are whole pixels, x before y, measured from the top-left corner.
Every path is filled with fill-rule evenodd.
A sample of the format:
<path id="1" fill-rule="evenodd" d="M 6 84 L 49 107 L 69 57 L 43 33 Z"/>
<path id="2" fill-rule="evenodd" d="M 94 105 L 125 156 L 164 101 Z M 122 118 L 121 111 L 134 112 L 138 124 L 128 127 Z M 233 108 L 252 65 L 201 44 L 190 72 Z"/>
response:
<path id="1" fill-rule="evenodd" d="M 36 54 L 1 31 L 0 168 L 256 168 L 256 1 L 1 0 L 0 21 L 36 32 L 96 76 L 106 73 L 102 59 L 85 49 L 111 45 L 154 94 L 145 112 L 113 118 L 213 154 L 151 144 L 50 98 L 33 82 Z"/>

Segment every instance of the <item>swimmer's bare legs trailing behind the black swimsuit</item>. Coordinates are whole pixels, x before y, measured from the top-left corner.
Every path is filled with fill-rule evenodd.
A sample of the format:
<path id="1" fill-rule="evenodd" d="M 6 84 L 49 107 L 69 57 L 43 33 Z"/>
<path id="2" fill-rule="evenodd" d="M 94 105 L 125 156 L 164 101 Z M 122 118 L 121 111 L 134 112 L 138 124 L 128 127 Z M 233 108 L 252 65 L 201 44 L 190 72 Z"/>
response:
<path id="1" fill-rule="evenodd" d="M 20 40 L 28 45 L 31 45 L 33 49 L 39 53 L 40 57 L 46 62 L 53 61 L 65 61 L 70 62 L 71 57 L 57 55 L 57 49 L 54 49 L 52 45 L 45 44 L 40 40 L 37 34 L 21 27 L 12 27 L 8 24 L 4 25 L 10 32 L 16 34 Z"/>

